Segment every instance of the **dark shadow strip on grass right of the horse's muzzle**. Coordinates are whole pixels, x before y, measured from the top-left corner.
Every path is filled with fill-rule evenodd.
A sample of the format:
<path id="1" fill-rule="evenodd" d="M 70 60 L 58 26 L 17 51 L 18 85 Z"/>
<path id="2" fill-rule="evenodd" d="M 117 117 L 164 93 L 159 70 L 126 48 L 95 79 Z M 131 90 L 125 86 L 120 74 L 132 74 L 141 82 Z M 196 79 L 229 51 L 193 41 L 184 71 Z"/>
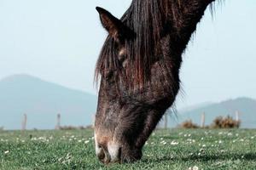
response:
<path id="1" fill-rule="evenodd" d="M 142 162 L 162 162 L 162 161 L 216 161 L 216 160 L 256 160 L 256 153 L 246 154 L 221 154 L 221 155 L 203 155 L 203 156 L 162 156 L 155 158 L 146 158 Z"/>

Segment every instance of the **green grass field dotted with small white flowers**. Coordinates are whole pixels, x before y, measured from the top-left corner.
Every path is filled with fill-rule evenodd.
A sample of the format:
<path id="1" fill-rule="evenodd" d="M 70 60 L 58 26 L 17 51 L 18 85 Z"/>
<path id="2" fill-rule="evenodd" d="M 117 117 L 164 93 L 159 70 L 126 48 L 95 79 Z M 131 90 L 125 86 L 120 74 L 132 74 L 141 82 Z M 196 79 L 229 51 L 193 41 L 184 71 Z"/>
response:
<path id="1" fill-rule="evenodd" d="M 92 130 L 0 132 L 0 169 L 256 169 L 256 130 L 158 130 L 133 164 L 103 166 Z"/>

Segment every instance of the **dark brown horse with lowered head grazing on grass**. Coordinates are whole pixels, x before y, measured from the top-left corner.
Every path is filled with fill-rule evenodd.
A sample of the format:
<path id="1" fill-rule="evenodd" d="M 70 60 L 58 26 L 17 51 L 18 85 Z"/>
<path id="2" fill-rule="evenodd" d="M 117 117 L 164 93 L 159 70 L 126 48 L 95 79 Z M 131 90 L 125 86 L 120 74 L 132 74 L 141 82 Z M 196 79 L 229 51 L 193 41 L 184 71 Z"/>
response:
<path id="1" fill-rule="evenodd" d="M 120 20 L 96 8 L 109 34 L 96 63 L 100 161 L 141 159 L 143 145 L 178 93 L 183 51 L 213 1 L 132 0 Z"/>

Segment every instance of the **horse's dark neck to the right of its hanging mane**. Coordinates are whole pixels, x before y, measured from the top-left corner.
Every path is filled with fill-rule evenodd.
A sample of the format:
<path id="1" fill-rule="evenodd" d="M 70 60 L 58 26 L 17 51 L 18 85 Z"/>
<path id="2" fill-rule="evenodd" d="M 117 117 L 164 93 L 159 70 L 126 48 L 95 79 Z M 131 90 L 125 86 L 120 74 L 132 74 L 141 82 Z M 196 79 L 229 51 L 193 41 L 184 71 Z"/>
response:
<path id="1" fill-rule="evenodd" d="M 182 54 L 207 6 L 214 0 L 162 0 L 166 2 L 167 34 L 170 35 L 177 54 Z"/>

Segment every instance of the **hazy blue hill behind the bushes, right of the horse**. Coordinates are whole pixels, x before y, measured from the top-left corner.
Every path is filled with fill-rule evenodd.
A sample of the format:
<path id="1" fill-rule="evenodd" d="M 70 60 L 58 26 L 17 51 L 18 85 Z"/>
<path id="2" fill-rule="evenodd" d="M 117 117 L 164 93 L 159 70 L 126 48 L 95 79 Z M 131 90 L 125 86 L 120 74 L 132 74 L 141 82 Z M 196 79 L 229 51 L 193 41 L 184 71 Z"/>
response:
<path id="1" fill-rule="evenodd" d="M 178 122 L 191 119 L 200 125 L 201 114 L 206 114 L 206 124 L 212 123 L 217 116 L 233 116 L 235 118 L 236 111 L 239 112 L 241 127 L 256 127 L 256 100 L 249 98 L 228 99 L 219 103 L 209 103 L 192 109 L 178 111 Z"/>

